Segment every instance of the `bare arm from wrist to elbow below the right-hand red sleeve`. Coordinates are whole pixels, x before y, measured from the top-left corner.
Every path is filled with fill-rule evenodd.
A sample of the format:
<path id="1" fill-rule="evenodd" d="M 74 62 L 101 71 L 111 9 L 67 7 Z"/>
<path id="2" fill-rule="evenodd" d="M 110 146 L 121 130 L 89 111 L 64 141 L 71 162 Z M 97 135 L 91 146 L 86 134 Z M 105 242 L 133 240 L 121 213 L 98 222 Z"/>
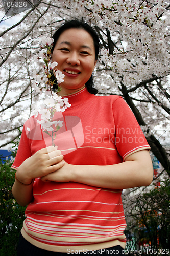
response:
<path id="1" fill-rule="evenodd" d="M 139 154 L 142 158 L 138 160 Z M 133 157 L 128 157 L 127 161 L 115 165 L 75 165 L 71 175 L 72 181 L 75 182 L 123 189 L 150 185 L 153 179 L 153 167 L 149 153 L 143 151 L 136 152 Z"/>

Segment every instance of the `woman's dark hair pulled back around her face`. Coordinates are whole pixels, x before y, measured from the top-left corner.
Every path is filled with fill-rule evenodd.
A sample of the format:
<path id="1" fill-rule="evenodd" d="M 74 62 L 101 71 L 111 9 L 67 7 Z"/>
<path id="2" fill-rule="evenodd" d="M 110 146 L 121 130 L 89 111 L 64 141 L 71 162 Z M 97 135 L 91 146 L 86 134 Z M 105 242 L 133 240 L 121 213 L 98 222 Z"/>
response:
<path id="1" fill-rule="evenodd" d="M 95 32 L 95 30 L 90 25 L 85 23 L 83 21 L 83 19 L 82 20 L 79 20 L 79 19 L 68 20 L 57 29 L 57 31 L 52 36 L 52 38 L 54 39 L 54 42 L 53 42 L 53 47 L 52 47 L 51 53 L 53 53 L 56 42 L 59 39 L 60 35 L 65 30 L 72 29 L 72 28 L 84 29 L 85 31 L 87 31 L 91 35 L 91 37 L 93 38 L 94 48 L 95 48 L 95 60 L 98 60 L 98 55 L 99 55 L 99 51 L 100 51 L 100 42 L 99 42 L 98 34 Z M 53 80 L 53 77 L 52 77 L 52 80 Z M 89 93 L 91 93 L 91 94 L 98 93 L 98 90 L 94 88 L 93 74 L 91 75 L 89 80 L 86 82 L 86 87 L 87 87 L 87 90 L 88 90 Z M 54 82 L 53 89 L 56 89 L 56 88 L 57 88 L 57 84 L 55 84 L 55 82 Z"/>

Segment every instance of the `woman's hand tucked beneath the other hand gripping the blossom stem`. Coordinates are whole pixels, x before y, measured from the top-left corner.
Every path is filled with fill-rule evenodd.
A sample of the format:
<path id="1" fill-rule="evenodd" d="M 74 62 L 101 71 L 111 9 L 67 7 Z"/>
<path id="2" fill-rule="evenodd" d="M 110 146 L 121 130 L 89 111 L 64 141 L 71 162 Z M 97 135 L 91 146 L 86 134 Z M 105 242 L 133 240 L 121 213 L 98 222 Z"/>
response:
<path id="1" fill-rule="evenodd" d="M 44 182 L 69 182 L 71 181 L 71 170 L 73 167 L 74 165 L 65 162 L 65 164 L 60 169 L 56 170 L 56 172 L 41 177 L 41 180 Z"/>

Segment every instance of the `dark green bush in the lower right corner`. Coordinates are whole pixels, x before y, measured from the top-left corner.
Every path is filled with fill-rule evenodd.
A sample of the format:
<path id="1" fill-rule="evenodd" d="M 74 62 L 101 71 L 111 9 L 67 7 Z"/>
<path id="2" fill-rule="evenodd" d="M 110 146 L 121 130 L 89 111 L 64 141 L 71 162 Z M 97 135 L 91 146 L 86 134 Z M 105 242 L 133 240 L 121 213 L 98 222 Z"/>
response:
<path id="1" fill-rule="evenodd" d="M 152 249 L 170 249 L 170 183 L 161 183 L 138 197 L 133 214 L 139 241 L 148 241 Z"/>

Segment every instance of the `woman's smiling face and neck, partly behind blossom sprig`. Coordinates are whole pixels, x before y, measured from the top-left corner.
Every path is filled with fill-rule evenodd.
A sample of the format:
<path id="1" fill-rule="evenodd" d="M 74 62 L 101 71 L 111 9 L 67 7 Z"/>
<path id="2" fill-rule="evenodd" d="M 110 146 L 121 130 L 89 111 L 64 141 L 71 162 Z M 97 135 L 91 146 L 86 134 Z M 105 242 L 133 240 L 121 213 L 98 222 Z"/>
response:
<path id="1" fill-rule="evenodd" d="M 52 62 L 65 75 L 60 95 L 74 93 L 84 87 L 96 61 L 91 35 L 83 29 L 67 29 L 59 37 L 52 54 Z"/>

